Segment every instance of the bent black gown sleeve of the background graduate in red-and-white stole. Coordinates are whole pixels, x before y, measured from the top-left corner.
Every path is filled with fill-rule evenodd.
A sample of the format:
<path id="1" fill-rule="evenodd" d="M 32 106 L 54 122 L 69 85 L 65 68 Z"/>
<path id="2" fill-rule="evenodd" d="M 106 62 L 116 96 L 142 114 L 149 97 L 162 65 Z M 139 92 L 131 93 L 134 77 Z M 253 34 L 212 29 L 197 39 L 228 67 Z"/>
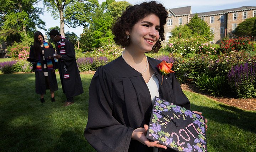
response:
<path id="1" fill-rule="evenodd" d="M 75 61 L 75 48 L 69 41 L 65 42 L 65 47 L 66 54 L 62 55 L 62 60 L 67 66 L 70 66 Z"/>

